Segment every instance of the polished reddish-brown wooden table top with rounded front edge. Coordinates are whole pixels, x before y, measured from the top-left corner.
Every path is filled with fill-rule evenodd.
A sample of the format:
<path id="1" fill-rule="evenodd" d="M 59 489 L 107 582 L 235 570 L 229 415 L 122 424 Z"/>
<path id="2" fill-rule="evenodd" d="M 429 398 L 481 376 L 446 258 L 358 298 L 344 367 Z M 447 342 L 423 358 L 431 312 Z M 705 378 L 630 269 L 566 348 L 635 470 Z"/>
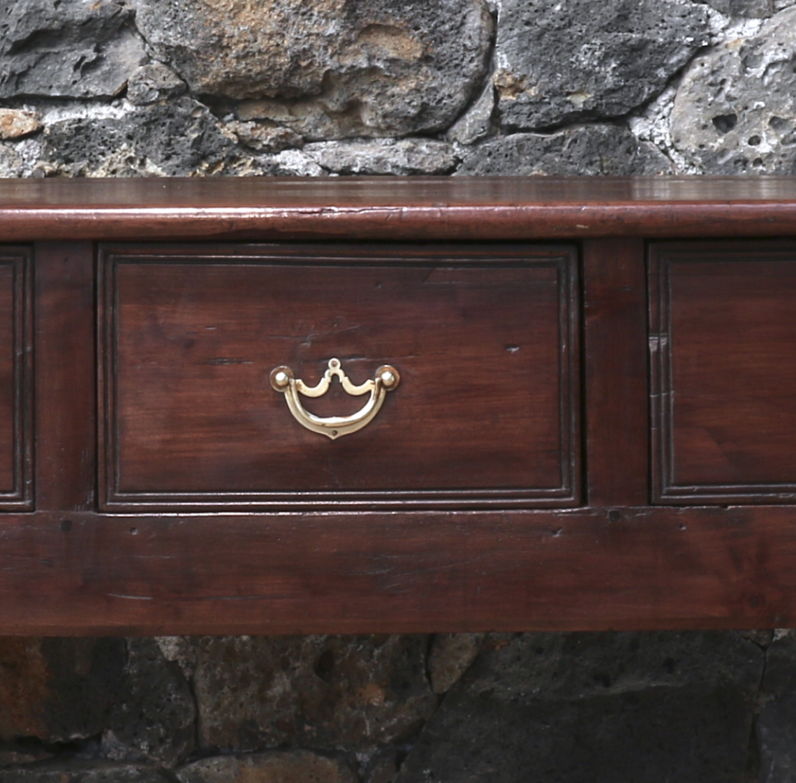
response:
<path id="1" fill-rule="evenodd" d="M 796 233 L 796 177 L 0 180 L 4 241 Z"/>

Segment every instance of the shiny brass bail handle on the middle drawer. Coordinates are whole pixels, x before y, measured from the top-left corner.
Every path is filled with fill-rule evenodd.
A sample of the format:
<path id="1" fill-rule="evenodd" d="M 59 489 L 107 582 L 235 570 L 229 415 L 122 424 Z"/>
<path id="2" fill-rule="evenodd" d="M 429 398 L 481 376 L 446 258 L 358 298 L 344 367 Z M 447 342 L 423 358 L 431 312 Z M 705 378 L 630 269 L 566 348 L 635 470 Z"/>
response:
<path id="1" fill-rule="evenodd" d="M 369 400 L 362 406 L 357 413 L 351 416 L 315 416 L 304 408 L 299 394 L 304 397 L 322 397 L 329 391 L 332 378 L 337 377 L 343 389 L 355 397 L 361 394 L 370 393 Z M 381 409 L 388 391 L 392 391 L 400 382 L 400 374 L 395 367 L 388 364 L 380 366 L 376 370 L 376 377 L 356 386 L 349 377 L 343 372 L 340 366 L 340 359 L 332 358 L 329 360 L 329 369 L 323 374 L 317 386 L 307 386 L 300 378 L 295 378 L 295 374 L 290 367 L 280 365 L 271 370 L 271 386 L 285 395 L 287 407 L 293 417 L 302 427 L 312 430 L 314 433 L 321 433 L 330 437 L 332 440 L 356 433 L 357 429 L 362 429 L 373 421 L 376 414 Z"/>

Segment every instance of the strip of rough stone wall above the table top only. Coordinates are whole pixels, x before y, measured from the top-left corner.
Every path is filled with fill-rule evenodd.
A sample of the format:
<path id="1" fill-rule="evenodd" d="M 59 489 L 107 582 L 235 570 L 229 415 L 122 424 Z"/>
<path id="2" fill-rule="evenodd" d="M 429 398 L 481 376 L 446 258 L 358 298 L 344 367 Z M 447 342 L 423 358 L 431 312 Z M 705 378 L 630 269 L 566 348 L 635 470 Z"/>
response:
<path id="1" fill-rule="evenodd" d="M 2 0 L 0 174 L 788 174 L 796 0 Z"/>

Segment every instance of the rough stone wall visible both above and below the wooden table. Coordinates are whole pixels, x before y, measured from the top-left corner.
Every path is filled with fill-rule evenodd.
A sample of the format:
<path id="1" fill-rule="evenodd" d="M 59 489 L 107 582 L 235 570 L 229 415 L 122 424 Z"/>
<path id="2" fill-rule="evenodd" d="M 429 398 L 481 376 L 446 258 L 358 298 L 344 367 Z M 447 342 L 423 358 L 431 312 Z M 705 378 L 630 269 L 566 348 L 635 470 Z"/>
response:
<path id="1" fill-rule="evenodd" d="M 0 176 L 796 174 L 796 0 L 0 0 Z M 796 635 L 0 640 L 0 783 L 786 783 Z"/>

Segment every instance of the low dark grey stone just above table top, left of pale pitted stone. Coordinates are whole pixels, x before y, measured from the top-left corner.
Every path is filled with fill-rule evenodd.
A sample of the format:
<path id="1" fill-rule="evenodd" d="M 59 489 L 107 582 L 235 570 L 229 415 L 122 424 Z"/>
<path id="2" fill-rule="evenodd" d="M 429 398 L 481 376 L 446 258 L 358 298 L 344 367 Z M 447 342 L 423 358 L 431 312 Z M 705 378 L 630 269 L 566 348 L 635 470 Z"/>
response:
<path id="1" fill-rule="evenodd" d="M 671 163 L 626 128 L 584 125 L 551 135 L 516 133 L 473 147 L 456 174 L 667 174 Z"/>

